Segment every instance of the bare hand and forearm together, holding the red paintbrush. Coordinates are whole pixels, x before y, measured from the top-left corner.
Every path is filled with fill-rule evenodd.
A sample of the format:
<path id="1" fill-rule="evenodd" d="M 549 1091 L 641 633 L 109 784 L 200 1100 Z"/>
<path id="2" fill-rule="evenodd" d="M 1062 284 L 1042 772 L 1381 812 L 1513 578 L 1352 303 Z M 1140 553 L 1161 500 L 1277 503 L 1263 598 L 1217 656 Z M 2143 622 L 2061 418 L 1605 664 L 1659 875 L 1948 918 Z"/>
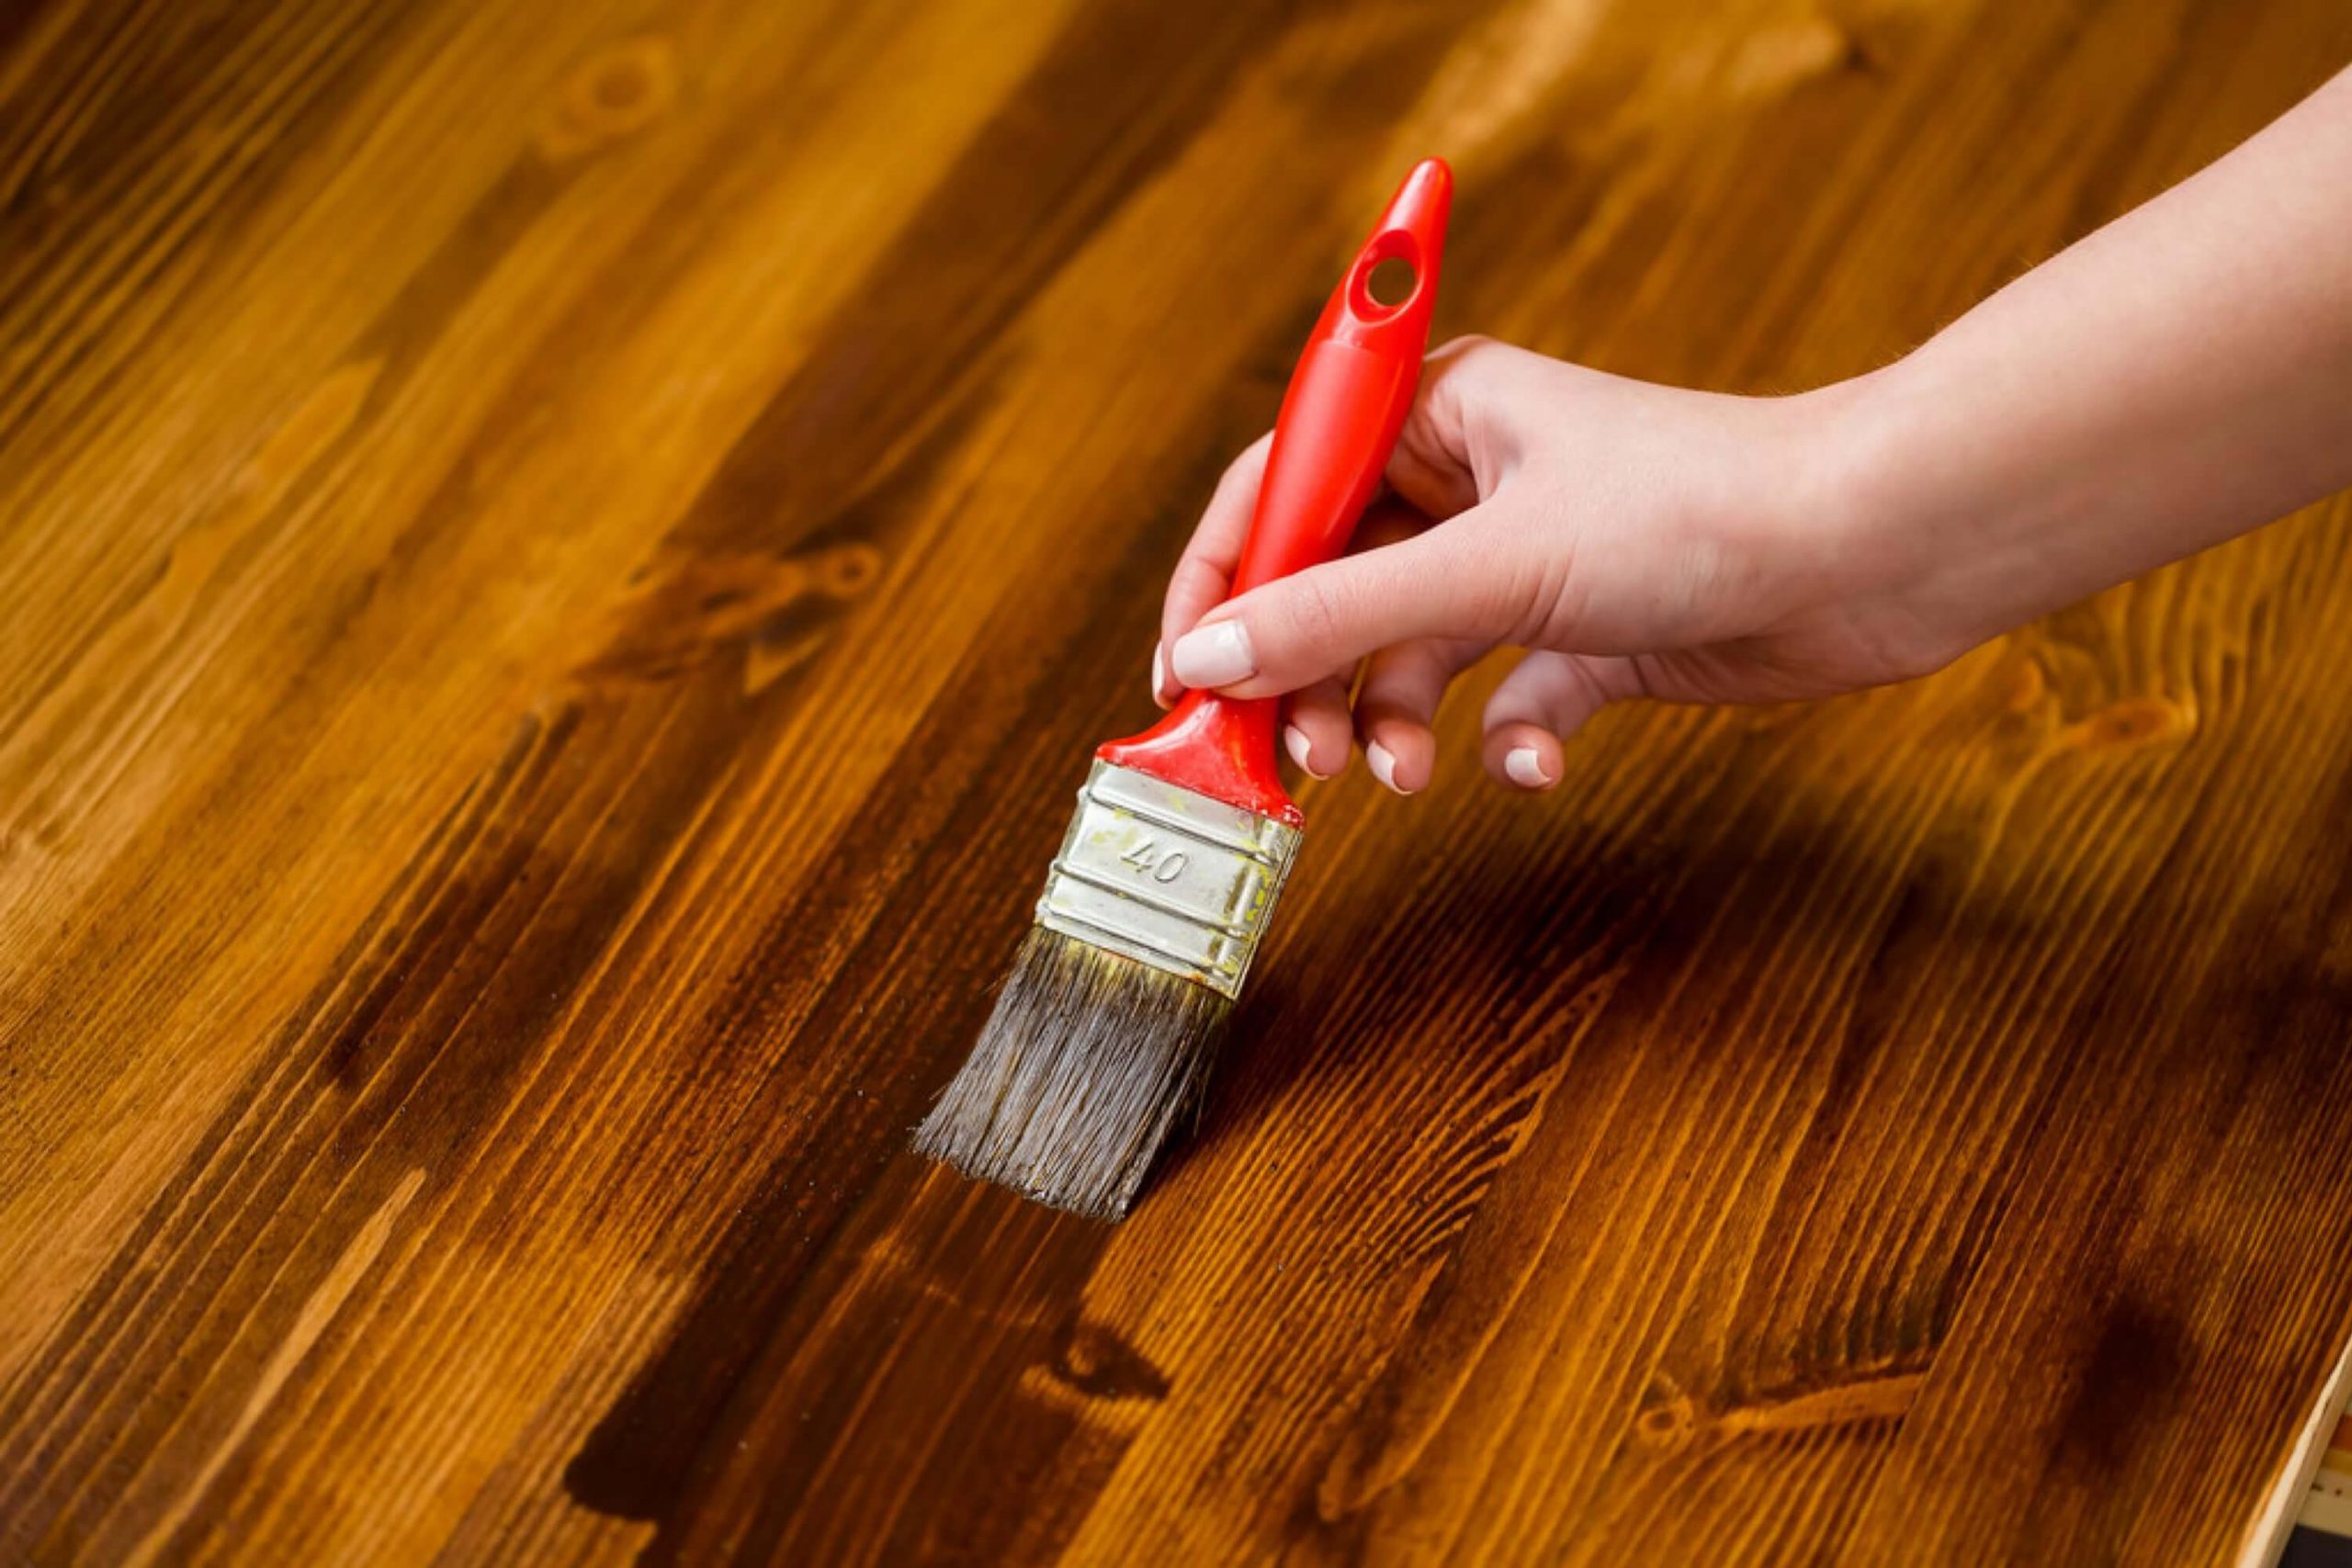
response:
<path id="1" fill-rule="evenodd" d="M 1559 778 L 1602 703 L 1825 696 L 2352 484 L 2352 71 L 1912 355 L 1799 397 L 1623 381 L 1463 339 L 1430 355 L 1364 550 L 1230 604 L 1263 442 L 1162 611 L 1181 684 L 1289 693 L 1284 745 L 1430 780 L 1446 682 L 1529 649 L 1486 771 Z M 1348 705 L 1348 677 L 1364 665 Z"/>

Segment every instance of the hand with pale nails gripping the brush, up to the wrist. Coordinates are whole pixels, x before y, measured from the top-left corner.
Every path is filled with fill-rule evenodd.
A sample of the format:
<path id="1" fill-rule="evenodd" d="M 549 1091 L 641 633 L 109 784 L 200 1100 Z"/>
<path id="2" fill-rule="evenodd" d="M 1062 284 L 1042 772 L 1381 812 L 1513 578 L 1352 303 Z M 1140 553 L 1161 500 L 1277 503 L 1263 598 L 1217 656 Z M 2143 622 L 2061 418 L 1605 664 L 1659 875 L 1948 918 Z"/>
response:
<path id="1" fill-rule="evenodd" d="M 1559 743 L 1611 701 L 1783 701 L 1931 670 L 1966 642 L 1879 574 L 1900 552 L 1844 548 L 1832 505 L 1858 388 L 1722 397 L 1446 343 L 1355 555 L 1223 604 L 1265 440 L 1225 470 L 1169 583 L 1155 696 L 1289 693 L 1298 766 L 1336 773 L 1355 733 L 1411 795 L 1446 684 L 1501 644 L 1529 654 L 1486 703 L 1484 762 L 1524 790 L 1559 780 Z"/>

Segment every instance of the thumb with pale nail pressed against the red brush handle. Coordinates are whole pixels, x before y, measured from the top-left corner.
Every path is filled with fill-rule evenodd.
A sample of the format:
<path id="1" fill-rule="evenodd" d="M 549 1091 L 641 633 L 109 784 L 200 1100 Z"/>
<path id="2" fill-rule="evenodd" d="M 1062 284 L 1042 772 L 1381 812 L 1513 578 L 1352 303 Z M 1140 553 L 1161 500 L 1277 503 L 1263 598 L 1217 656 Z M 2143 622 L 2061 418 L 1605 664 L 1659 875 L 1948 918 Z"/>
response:
<path id="1" fill-rule="evenodd" d="M 1529 623 L 1538 576 L 1494 505 L 1411 538 L 1310 567 L 1209 611 L 1169 649 L 1185 686 L 1225 696 L 1298 691 L 1374 649 L 1416 637 L 1505 642 Z"/>

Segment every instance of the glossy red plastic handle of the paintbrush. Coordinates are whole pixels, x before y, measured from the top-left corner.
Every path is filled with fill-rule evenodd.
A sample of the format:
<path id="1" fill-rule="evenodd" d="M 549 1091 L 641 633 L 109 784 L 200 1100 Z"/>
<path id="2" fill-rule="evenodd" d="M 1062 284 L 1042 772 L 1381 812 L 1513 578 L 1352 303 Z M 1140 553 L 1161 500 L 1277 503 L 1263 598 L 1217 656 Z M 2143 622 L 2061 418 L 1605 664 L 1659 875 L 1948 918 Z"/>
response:
<path id="1" fill-rule="evenodd" d="M 1319 567 L 1348 548 L 1414 407 L 1451 205 L 1454 174 L 1425 158 L 1331 292 L 1282 395 L 1232 592 Z M 1371 270 L 1383 261 L 1404 261 L 1414 275 L 1411 294 L 1390 306 L 1371 296 Z M 1096 757 L 1298 825 L 1305 818 L 1275 766 L 1275 698 L 1190 691 L 1160 724 L 1103 745 Z"/>

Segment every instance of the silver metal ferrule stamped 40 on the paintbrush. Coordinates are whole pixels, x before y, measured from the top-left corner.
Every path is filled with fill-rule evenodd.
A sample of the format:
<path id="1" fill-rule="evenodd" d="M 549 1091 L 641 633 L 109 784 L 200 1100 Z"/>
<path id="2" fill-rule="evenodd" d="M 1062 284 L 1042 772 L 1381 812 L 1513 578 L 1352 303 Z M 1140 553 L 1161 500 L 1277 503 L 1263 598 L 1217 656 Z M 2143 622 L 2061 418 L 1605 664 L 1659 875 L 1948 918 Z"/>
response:
<path id="1" fill-rule="evenodd" d="M 1096 759 L 1037 924 L 1240 997 L 1294 853 L 1287 823 Z"/>

